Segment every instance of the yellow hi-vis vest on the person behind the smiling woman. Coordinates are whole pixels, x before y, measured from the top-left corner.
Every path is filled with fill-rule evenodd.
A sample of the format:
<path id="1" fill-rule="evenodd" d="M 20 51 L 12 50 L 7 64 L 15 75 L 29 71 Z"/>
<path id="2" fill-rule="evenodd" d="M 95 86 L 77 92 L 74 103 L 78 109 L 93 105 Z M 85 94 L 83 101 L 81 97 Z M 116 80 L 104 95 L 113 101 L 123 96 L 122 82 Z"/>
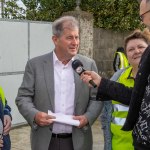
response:
<path id="1" fill-rule="evenodd" d="M 121 52 L 116 52 L 116 53 L 119 55 L 119 58 L 120 58 L 119 68 L 124 69 L 124 68 L 128 67 L 129 62 L 128 62 L 127 57 L 125 56 L 125 54 L 121 53 Z"/>

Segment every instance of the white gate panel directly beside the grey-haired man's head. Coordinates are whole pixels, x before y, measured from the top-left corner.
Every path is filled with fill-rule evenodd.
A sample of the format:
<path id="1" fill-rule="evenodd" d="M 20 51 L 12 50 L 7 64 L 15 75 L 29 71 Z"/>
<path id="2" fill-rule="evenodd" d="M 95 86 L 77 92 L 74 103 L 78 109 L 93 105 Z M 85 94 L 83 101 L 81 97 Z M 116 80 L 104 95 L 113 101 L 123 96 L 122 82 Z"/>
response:
<path id="1" fill-rule="evenodd" d="M 30 58 L 49 53 L 53 50 L 51 28 L 51 24 L 30 24 Z"/>

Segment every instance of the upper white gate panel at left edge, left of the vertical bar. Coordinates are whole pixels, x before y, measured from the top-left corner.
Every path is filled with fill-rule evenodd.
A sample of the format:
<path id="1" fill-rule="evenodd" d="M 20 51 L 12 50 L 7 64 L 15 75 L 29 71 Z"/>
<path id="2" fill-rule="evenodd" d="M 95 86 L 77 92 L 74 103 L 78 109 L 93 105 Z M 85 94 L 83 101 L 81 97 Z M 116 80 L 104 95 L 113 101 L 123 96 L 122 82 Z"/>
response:
<path id="1" fill-rule="evenodd" d="M 22 71 L 28 59 L 28 24 L 0 21 L 0 72 Z"/>

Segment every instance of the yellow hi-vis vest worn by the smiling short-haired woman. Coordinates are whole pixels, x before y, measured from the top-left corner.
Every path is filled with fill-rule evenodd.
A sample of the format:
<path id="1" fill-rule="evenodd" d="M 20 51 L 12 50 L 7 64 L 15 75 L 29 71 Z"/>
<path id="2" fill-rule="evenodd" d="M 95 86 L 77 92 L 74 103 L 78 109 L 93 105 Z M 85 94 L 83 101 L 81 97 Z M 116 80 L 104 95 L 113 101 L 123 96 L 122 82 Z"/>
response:
<path id="1" fill-rule="evenodd" d="M 117 82 L 122 83 L 128 87 L 134 86 L 133 76 L 131 77 L 132 67 L 128 67 L 119 77 Z M 128 106 L 123 105 L 119 102 L 112 101 L 113 113 L 111 122 L 111 133 L 112 133 L 112 150 L 134 150 L 132 146 L 132 131 L 121 130 L 125 123 Z"/>

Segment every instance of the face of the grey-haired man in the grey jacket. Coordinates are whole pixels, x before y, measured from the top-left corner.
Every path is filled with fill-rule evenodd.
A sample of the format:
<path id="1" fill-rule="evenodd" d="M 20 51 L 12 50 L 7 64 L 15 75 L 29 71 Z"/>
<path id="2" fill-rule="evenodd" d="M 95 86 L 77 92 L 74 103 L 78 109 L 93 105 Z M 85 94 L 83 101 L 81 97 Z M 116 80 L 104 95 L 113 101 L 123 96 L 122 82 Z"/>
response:
<path id="1" fill-rule="evenodd" d="M 53 36 L 55 52 L 60 61 L 71 59 L 78 52 L 79 30 L 65 28 L 60 37 Z"/>

